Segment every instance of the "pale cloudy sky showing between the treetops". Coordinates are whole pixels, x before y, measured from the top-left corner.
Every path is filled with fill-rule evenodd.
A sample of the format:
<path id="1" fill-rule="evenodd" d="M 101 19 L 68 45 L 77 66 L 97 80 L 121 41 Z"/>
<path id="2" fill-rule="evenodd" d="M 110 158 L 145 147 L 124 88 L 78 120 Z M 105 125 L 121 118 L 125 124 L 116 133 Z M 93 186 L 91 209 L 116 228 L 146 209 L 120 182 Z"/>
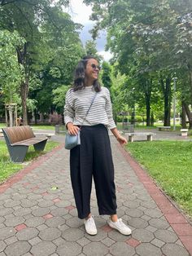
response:
<path id="1" fill-rule="evenodd" d="M 80 38 L 85 46 L 85 42 L 92 39 L 91 34 L 89 33 L 89 30 L 94 26 L 94 21 L 89 20 L 89 15 L 91 15 L 92 12 L 91 7 L 87 7 L 83 3 L 83 0 L 71 0 L 71 7 L 68 7 L 65 11 L 72 16 L 74 22 L 84 26 L 81 30 Z M 106 33 L 104 31 L 99 34 L 99 38 L 96 42 L 98 53 L 103 55 L 104 60 L 109 60 L 111 58 L 111 53 L 104 49 L 106 44 Z"/>

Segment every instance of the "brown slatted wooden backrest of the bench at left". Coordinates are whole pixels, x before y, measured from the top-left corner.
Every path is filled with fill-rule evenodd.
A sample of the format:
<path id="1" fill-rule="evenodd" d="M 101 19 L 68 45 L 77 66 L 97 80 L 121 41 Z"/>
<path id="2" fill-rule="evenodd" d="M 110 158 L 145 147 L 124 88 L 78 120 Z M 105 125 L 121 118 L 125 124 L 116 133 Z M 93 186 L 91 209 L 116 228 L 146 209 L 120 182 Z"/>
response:
<path id="1" fill-rule="evenodd" d="M 2 130 L 7 135 L 11 144 L 35 137 L 30 126 L 7 127 L 2 128 Z"/>

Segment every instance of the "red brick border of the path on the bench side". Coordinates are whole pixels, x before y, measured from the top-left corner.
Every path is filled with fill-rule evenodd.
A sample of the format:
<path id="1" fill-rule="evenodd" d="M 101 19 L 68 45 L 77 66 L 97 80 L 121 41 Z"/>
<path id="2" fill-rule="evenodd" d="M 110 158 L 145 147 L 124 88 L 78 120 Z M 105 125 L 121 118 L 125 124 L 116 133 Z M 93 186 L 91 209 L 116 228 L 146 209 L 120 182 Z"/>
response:
<path id="1" fill-rule="evenodd" d="M 18 173 L 14 174 L 10 179 L 7 179 L 4 183 L 0 184 L 0 193 L 5 192 L 7 188 L 10 188 L 12 184 L 17 183 L 23 177 L 35 169 L 37 166 L 40 166 L 44 161 L 52 157 L 55 152 L 58 152 L 61 148 L 63 148 L 64 144 L 62 143 L 58 147 L 51 150 L 51 152 L 46 153 L 45 155 L 38 157 L 37 160 L 30 163 L 28 166 L 24 167 L 24 169 L 20 170 Z"/>

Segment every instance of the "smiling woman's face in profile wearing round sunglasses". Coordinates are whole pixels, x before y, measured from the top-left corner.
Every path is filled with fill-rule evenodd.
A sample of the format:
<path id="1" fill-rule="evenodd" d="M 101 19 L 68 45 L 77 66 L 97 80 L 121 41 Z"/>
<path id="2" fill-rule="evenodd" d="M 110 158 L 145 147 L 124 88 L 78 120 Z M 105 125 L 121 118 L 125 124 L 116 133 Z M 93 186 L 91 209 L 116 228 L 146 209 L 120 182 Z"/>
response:
<path id="1" fill-rule="evenodd" d="M 97 80 L 99 69 L 98 61 L 89 59 L 85 68 L 85 77 L 93 81 Z"/>

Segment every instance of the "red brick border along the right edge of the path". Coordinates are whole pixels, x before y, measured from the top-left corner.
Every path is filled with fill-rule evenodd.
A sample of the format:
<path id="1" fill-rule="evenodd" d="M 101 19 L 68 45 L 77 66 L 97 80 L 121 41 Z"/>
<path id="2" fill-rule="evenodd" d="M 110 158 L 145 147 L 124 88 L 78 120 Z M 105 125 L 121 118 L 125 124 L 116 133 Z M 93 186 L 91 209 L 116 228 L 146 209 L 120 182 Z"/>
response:
<path id="1" fill-rule="evenodd" d="M 129 165 L 137 174 L 138 179 L 143 183 L 146 190 L 149 192 L 151 197 L 154 199 L 156 205 L 164 214 L 164 217 L 167 219 L 168 223 L 172 229 L 176 232 L 177 236 L 192 255 L 192 225 L 189 221 L 181 214 L 179 210 L 168 200 L 168 197 L 157 187 L 151 177 L 146 173 L 146 170 L 142 169 L 137 161 L 130 156 L 120 144 L 117 144 L 117 147 L 120 149 L 120 152 L 124 155 L 126 161 L 129 162 Z"/>

